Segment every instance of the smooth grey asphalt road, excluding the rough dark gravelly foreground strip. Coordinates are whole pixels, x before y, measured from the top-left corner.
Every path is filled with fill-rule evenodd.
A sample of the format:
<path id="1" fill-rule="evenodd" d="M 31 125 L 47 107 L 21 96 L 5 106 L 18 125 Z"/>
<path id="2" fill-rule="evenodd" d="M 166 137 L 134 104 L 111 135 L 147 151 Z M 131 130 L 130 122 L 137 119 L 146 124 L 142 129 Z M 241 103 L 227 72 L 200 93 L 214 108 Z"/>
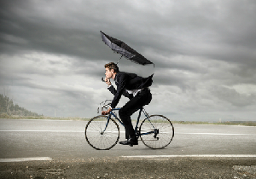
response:
<path id="1" fill-rule="evenodd" d="M 49 157 L 90 159 L 144 155 L 256 154 L 256 127 L 174 124 L 171 144 L 153 150 L 117 144 L 97 151 L 84 139 L 86 121 L 0 119 L 0 159 Z M 124 130 L 123 127 L 120 127 Z M 124 140 L 121 133 L 120 141 Z"/>

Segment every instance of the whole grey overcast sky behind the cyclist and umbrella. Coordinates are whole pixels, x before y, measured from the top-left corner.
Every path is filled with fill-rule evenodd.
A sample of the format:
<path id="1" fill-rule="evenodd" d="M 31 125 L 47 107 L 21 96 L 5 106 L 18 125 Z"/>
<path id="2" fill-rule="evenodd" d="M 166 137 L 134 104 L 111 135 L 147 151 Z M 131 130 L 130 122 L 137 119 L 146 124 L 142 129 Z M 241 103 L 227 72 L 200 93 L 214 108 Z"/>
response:
<path id="1" fill-rule="evenodd" d="M 117 62 L 100 31 L 153 66 L 122 58 L 120 71 L 154 73 L 146 110 L 171 120 L 255 120 L 254 0 L 1 0 L 0 92 L 20 107 L 93 117 L 113 99 L 102 83 Z M 127 99 L 122 97 L 119 107 Z"/>

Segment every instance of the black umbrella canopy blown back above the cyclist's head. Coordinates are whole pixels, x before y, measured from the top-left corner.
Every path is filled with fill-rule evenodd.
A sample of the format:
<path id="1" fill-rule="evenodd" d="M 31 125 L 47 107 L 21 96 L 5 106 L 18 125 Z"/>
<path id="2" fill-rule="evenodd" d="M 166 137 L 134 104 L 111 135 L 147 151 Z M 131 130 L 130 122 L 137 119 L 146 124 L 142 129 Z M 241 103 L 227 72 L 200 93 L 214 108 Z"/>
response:
<path id="1" fill-rule="evenodd" d="M 136 62 L 141 65 L 154 64 L 151 61 L 148 61 L 143 55 L 137 53 L 136 50 L 131 49 L 127 44 L 119 39 L 112 38 L 108 36 L 106 33 L 102 32 L 102 41 L 108 45 L 114 52 L 125 56 L 125 58 Z"/>

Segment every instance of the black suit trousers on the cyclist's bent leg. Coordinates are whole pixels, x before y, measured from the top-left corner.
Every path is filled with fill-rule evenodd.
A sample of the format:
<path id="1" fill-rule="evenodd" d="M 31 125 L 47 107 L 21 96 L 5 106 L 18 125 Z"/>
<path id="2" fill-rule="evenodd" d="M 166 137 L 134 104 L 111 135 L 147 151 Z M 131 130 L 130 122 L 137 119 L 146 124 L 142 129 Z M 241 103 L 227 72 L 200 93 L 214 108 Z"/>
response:
<path id="1" fill-rule="evenodd" d="M 135 130 L 131 124 L 131 115 L 140 108 L 148 105 L 152 100 L 152 95 L 148 88 L 145 88 L 137 93 L 124 107 L 119 109 L 119 117 L 125 125 L 125 138 L 129 139 L 136 136 Z"/>

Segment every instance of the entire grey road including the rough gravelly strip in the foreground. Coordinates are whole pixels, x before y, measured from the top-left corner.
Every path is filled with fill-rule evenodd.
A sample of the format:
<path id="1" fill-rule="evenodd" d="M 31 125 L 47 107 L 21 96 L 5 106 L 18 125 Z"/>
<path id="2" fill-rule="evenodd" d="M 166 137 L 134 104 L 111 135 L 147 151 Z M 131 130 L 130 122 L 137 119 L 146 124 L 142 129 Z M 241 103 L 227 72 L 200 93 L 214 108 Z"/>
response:
<path id="1" fill-rule="evenodd" d="M 139 141 L 97 151 L 86 123 L 0 119 L 0 178 L 256 178 L 256 127 L 174 124 L 164 149 Z"/>

